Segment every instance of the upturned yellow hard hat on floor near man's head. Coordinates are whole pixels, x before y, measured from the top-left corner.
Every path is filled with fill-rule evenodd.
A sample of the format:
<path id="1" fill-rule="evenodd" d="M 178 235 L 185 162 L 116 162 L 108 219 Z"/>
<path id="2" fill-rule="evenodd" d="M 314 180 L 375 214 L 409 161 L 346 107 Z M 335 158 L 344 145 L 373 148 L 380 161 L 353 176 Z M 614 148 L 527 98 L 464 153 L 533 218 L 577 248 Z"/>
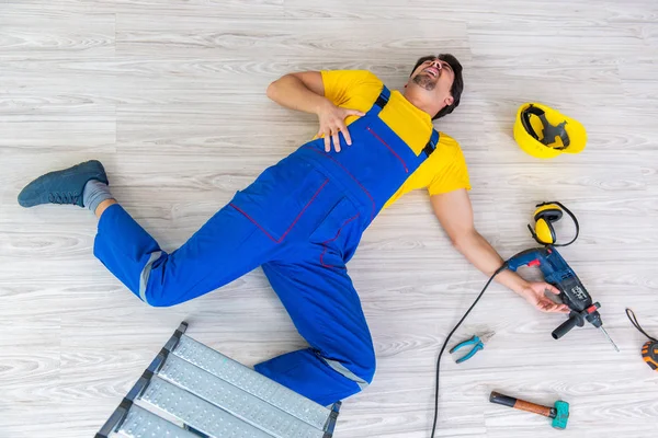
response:
<path id="1" fill-rule="evenodd" d="M 533 157 L 549 159 L 585 149 L 585 127 L 570 117 L 538 103 L 524 103 L 517 112 L 514 140 Z"/>

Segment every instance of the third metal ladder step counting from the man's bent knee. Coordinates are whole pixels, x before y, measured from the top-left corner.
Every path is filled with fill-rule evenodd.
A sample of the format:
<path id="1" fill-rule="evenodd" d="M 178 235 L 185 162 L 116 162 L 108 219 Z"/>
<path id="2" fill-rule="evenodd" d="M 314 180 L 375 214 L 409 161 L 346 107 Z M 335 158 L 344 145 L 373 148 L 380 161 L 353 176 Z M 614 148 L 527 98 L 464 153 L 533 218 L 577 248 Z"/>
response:
<path id="1" fill-rule="evenodd" d="M 211 437 L 272 438 L 271 435 L 157 376 L 152 377 L 139 400 Z"/>

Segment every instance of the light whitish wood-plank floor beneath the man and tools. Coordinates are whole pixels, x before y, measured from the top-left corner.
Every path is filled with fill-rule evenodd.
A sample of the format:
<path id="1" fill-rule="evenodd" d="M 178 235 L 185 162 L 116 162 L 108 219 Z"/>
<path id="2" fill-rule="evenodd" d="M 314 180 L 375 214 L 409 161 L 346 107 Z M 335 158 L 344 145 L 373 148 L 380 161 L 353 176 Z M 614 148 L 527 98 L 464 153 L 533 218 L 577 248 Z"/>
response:
<path id="1" fill-rule="evenodd" d="M 114 194 L 162 245 L 189 238 L 235 191 L 316 132 L 277 107 L 292 70 L 371 69 L 393 87 L 413 61 L 465 66 L 462 106 L 438 127 L 466 154 L 477 227 L 503 256 L 529 247 L 533 206 L 558 199 L 582 237 L 563 254 L 597 300 L 616 354 L 563 316 L 495 286 L 458 332 L 496 337 L 445 358 L 442 437 L 645 437 L 658 373 L 632 307 L 658 334 L 658 3 L 603 1 L 4 0 L 0 3 L 0 437 L 91 437 L 181 320 L 248 365 L 304 342 L 260 272 L 172 309 L 144 306 L 92 256 L 95 220 L 18 206 L 36 175 L 97 158 Z M 581 120 L 578 155 L 540 162 L 511 137 L 517 107 Z M 568 232 L 568 222 L 564 232 Z M 385 211 L 350 264 L 378 355 L 337 437 L 429 437 L 434 360 L 485 277 L 426 193 Z M 492 390 L 571 403 L 566 431 L 488 403 Z"/>

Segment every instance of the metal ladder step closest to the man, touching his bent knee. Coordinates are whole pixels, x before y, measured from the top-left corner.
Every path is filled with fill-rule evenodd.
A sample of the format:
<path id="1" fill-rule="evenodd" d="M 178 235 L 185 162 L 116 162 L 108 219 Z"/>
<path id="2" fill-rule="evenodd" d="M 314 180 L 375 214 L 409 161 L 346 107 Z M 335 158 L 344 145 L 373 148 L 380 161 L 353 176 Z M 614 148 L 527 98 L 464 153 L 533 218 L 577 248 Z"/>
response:
<path id="1" fill-rule="evenodd" d="M 324 430 L 327 425 L 327 419 L 331 414 L 330 410 L 189 336 L 182 335 L 172 353 L 317 429 Z"/>

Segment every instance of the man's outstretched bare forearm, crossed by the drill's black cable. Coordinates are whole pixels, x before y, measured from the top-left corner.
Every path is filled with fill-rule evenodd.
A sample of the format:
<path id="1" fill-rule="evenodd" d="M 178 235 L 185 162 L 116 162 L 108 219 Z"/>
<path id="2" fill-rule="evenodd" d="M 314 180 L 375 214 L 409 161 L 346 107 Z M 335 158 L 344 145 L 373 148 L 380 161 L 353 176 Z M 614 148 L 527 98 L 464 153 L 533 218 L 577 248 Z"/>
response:
<path id="1" fill-rule="evenodd" d="M 504 262 L 494 246 L 477 231 L 464 235 L 461 241 L 455 242 L 455 247 L 487 276 L 491 276 Z M 496 281 L 517 293 L 521 293 L 529 285 L 517 273 L 508 269 L 497 275 Z"/>

